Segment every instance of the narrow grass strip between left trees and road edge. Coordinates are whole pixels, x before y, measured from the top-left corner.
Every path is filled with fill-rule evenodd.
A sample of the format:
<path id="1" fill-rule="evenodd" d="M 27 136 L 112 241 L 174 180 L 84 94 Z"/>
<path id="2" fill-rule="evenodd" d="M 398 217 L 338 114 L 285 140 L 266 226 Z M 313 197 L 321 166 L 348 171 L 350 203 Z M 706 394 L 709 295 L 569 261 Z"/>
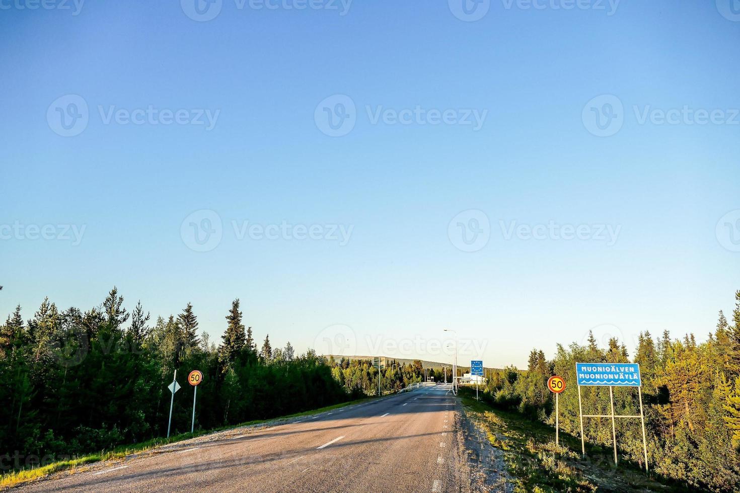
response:
<path id="1" fill-rule="evenodd" d="M 168 443 L 175 443 L 178 441 L 188 440 L 189 438 L 197 438 L 203 435 L 209 435 L 215 432 L 221 432 L 226 429 L 240 428 L 242 426 L 254 426 L 257 424 L 269 423 L 270 421 L 278 421 L 283 419 L 297 418 L 299 416 L 308 416 L 316 414 L 317 412 L 330 411 L 332 409 L 338 409 L 340 407 L 351 406 L 360 402 L 369 401 L 374 399 L 373 397 L 357 399 L 356 401 L 343 402 L 340 404 L 333 404 L 332 406 L 321 407 L 320 409 L 312 409 L 310 411 L 296 412 L 292 415 L 279 416 L 277 418 L 269 418 L 263 420 L 246 421 L 246 423 L 234 424 L 229 426 L 220 426 L 213 429 L 202 429 L 195 433 L 181 433 L 179 435 L 172 435 L 169 438 L 152 438 L 141 443 L 132 443 L 129 445 L 117 446 L 110 450 L 103 450 L 94 454 L 83 455 L 81 457 L 73 458 L 70 460 L 60 460 L 58 462 L 50 463 L 45 466 L 33 467 L 30 469 L 20 469 L 18 471 L 9 472 L 0 476 L 0 489 L 13 488 L 14 486 L 20 486 L 24 483 L 29 483 L 33 480 L 38 480 L 41 477 L 54 474 L 60 471 L 75 472 L 80 466 L 84 466 L 90 463 L 100 462 L 104 460 L 114 460 L 126 458 L 128 455 L 135 454 L 138 452 L 146 452 L 147 450 L 155 449 L 158 446 L 166 445 Z"/>

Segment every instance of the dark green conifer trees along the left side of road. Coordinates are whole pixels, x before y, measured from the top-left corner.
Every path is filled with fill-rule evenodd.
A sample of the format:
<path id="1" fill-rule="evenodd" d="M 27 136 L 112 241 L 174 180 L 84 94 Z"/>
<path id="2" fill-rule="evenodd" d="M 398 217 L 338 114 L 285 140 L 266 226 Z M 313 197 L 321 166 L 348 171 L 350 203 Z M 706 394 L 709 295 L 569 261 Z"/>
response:
<path id="1" fill-rule="evenodd" d="M 2 293 L 6 295 L 6 292 Z M 0 469 L 111 449 L 166 435 L 175 369 L 172 432 L 189 432 L 192 390 L 201 370 L 195 424 L 210 429 L 348 401 L 326 360 L 290 343 L 261 347 L 243 324 L 239 299 L 219 344 L 199 334 L 191 304 L 178 315 L 130 312 L 116 288 L 90 310 L 59 310 L 44 299 L 30 319 L 21 307 L 0 325 Z M 2 471 L 0 471 L 2 472 Z"/>

